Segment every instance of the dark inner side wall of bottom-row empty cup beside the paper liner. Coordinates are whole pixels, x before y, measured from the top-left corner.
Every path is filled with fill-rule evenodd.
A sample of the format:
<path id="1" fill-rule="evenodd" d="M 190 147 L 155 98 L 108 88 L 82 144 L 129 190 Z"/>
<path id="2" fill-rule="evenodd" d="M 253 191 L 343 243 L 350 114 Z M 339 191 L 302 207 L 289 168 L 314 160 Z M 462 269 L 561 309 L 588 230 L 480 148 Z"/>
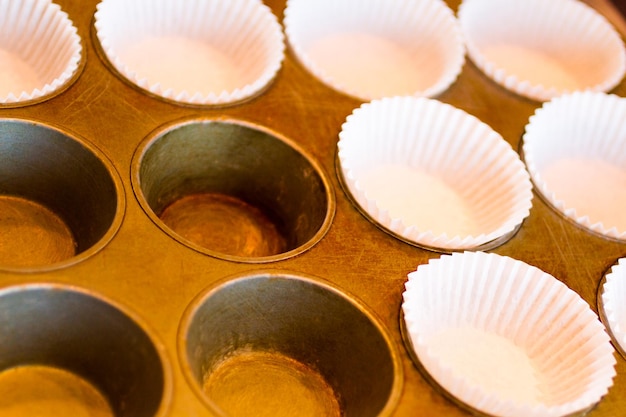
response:
<path id="1" fill-rule="evenodd" d="M 278 352 L 314 369 L 342 416 L 388 415 L 401 389 L 396 353 L 381 327 L 348 296 L 307 278 L 262 273 L 210 290 L 188 310 L 179 346 L 192 385 L 218 410 L 219 399 L 203 384 L 239 351 Z"/>

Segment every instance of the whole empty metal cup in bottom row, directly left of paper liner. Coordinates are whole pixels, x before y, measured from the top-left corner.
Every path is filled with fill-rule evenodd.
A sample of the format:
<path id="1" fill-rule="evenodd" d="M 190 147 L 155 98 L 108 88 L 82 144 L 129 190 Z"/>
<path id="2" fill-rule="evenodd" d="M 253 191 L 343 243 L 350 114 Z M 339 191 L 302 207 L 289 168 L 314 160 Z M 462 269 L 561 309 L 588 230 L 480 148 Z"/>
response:
<path id="1" fill-rule="evenodd" d="M 401 393 L 383 327 L 312 277 L 231 277 L 189 305 L 178 344 L 185 376 L 217 415 L 389 416 Z"/>

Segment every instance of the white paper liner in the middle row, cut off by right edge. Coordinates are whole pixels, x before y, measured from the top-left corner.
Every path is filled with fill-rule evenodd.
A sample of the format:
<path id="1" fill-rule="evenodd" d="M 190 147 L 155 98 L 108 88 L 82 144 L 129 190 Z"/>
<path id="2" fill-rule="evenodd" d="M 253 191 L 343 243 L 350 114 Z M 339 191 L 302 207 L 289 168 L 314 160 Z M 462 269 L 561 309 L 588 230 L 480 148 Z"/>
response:
<path id="1" fill-rule="evenodd" d="M 523 136 L 543 197 L 592 232 L 626 240 L 626 99 L 577 92 L 537 109 Z"/>

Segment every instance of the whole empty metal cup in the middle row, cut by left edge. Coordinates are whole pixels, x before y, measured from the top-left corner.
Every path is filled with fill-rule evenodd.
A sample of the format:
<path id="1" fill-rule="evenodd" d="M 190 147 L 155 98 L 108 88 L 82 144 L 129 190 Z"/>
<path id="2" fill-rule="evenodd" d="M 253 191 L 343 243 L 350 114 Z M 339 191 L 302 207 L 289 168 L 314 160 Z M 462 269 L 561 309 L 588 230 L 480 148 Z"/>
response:
<path id="1" fill-rule="evenodd" d="M 103 248 L 125 199 L 111 162 L 87 141 L 40 123 L 0 121 L 0 268 L 73 264 Z"/>

